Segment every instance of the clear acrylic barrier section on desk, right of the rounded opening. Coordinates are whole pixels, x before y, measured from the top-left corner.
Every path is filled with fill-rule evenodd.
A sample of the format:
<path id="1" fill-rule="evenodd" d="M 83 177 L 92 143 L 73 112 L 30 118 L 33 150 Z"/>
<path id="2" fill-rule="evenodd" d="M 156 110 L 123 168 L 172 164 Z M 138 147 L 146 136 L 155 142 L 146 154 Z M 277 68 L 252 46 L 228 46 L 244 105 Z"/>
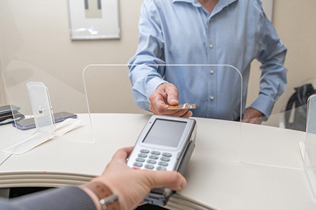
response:
<path id="1" fill-rule="evenodd" d="M 301 111 L 302 107 L 297 109 L 293 106 L 289 111 L 285 111 L 286 105 L 283 107 L 280 112 L 271 114 L 261 125 L 241 124 L 240 161 L 302 170 L 300 142 L 305 140 L 306 133 L 291 129 L 287 126 L 289 123 L 285 122 L 293 120 L 295 113 Z"/>

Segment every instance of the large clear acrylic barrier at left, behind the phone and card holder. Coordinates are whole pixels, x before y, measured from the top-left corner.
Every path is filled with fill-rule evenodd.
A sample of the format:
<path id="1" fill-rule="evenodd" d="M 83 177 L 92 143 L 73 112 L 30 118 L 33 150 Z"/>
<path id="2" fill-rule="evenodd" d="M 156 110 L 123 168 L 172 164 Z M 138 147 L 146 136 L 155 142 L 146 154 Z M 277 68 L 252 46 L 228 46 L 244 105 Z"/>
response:
<path id="1" fill-rule="evenodd" d="M 77 114 L 77 118 L 82 119 L 80 127 L 76 128 L 75 132 L 67 133 L 66 139 L 93 142 L 81 77 L 83 66 L 77 68 L 79 69 L 77 75 L 73 72 L 69 75 L 66 70 L 73 62 L 68 64 L 65 57 L 58 56 L 58 53 L 53 53 L 53 49 L 48 49 L 45 44 L 40 44 L 38 29 L 29 29 L 30 25 L 21 23 L 20 21 L 25 20 L 27 16 L 17 15 L 21 13 L 16 12 L 15 9 L 10 1 L 1 1 L 0 3 L 0 14 L 3 17 L 0 20 L 1 30 L 6 31 L 5 34 L 0 34 L 0 106 L 20 107 L 18 111 L 13 112 L 14 121 L 21 120 L 21 116 L 33 118 L 33 114 L 38 114 L 38 110 L 37 112 L 32 110 L 27 83 L 30 81 L 45 83 L 49 89 L 53 114 L 66 111 Z M 45 36 L 40 34 L 40 37 Z M 36 44 L 29 44 L 32 38 L 35 38 Z M 47 39 L 44 39 L 47 42 Z M 53 41 L 53 38 L 50 37 L 50 41 Z M 56 50 L 60 51 L 60 47 L 56 47 Z M 62 73 L 60 73 L 61 70 Z M 77 80 L 69 80 L 69 77 L 77 78 Z M 51 107 L 42 108 L 47 110 Z M 42 126 L 48 118 L 49 115 L 36 118 L 36 124 L 39 125 L 40 131 L 49 130 L 48 127 Z M 70 120 L 67 120 L 67 123 L 69 125 Z M 7 123 L 1 126 L 10 127 L 12 125 Z M 60 128 L 57 135 L 65 133 L 65 122 L 63 124 L 62 122 L 56 123 L 56 127 Z M 36 128 L 27 130 L 14 128 L 14 134 L 10 135 L 10 139 L 12 139 L 10 144 L 21 142 L 34 135 L 36 131 Z M 1 150 L 5 147 L 1 147 Z"/>

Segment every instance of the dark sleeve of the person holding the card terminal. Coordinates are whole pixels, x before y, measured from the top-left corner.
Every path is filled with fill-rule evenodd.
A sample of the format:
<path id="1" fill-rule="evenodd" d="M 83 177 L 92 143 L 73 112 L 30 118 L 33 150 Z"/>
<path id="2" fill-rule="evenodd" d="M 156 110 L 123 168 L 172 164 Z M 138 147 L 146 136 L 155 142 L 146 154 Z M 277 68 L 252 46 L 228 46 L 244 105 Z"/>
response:
<path id="1" fill-rule="evenodd" d="M 80 187 L 47 189 L 19 198 L 0 200 L 1 210 L 95 210 L 93 200 Z"/>

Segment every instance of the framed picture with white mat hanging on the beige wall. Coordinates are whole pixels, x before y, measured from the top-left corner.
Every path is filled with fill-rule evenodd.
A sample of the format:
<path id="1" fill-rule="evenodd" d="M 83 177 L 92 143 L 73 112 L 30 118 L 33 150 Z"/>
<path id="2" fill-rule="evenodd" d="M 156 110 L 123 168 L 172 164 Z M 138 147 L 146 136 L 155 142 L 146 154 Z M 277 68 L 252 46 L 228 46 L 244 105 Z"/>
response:
<path id="1" fill-rule="evenodd" d="M 71 40 L 119 39 L 119 0 L 69 0 Z"/>

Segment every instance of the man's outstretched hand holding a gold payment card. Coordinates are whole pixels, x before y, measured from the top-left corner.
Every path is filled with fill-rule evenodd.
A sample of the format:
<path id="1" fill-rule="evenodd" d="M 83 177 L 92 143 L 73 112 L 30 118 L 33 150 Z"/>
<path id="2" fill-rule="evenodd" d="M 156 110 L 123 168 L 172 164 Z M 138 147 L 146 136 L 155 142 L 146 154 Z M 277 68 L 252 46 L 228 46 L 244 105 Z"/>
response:
<path id="1" fill-rule="evenodd" d="M 189 118 L 192 116 L 192 111 L 188 109 L 169 110 L 169 105 L 178 105 L 178 89 L 172 83 L 162 83 L 149 96 L 149 110 L 154 114 L 176 116 L 182 118 Z"/>

